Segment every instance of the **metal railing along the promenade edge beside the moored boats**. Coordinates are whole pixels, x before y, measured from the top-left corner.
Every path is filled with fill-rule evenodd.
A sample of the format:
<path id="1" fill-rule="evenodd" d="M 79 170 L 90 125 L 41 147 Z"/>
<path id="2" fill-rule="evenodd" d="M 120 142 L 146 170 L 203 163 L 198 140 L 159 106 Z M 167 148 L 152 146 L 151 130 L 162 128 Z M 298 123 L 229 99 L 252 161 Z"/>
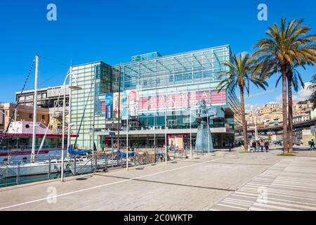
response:
<path id="1" fill-rule="evenodd" d="M 207 155 L 206 152 L 192 150 L 192 158 Z M 126 159 L 126 150 L 97 151 L 92 155 L 74 156 L 65 159 L 65 176 L 77 176 L 95 172 L 108 172 L 112 169 L 129 167 L 136 169 L 145 165 L 154 165 L 159 162 L 177 162 L 177 160 L 190 158 L 190 147 L 184 149 L 168 147 L 167 155 L 164 148 L 143 148 L 129 151 L 129 159 Z M 29 160 L 17 160 L 0 163 L 0 188 L 20 184 L 60 179 L 61 160 L 48 159 L 30 163 Z"/>

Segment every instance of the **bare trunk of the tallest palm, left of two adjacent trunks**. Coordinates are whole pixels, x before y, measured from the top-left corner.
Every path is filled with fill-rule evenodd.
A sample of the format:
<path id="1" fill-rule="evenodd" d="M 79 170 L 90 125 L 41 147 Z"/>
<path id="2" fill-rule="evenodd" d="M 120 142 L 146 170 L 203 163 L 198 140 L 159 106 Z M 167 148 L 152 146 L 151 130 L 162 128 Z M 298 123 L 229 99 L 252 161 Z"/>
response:
<path id="1" fill-rule="evenodd" d="M 283 152 L 289 151 L 287 133 L 287 65 L 282 65 L 282 108 L 283 108 Z"/>

